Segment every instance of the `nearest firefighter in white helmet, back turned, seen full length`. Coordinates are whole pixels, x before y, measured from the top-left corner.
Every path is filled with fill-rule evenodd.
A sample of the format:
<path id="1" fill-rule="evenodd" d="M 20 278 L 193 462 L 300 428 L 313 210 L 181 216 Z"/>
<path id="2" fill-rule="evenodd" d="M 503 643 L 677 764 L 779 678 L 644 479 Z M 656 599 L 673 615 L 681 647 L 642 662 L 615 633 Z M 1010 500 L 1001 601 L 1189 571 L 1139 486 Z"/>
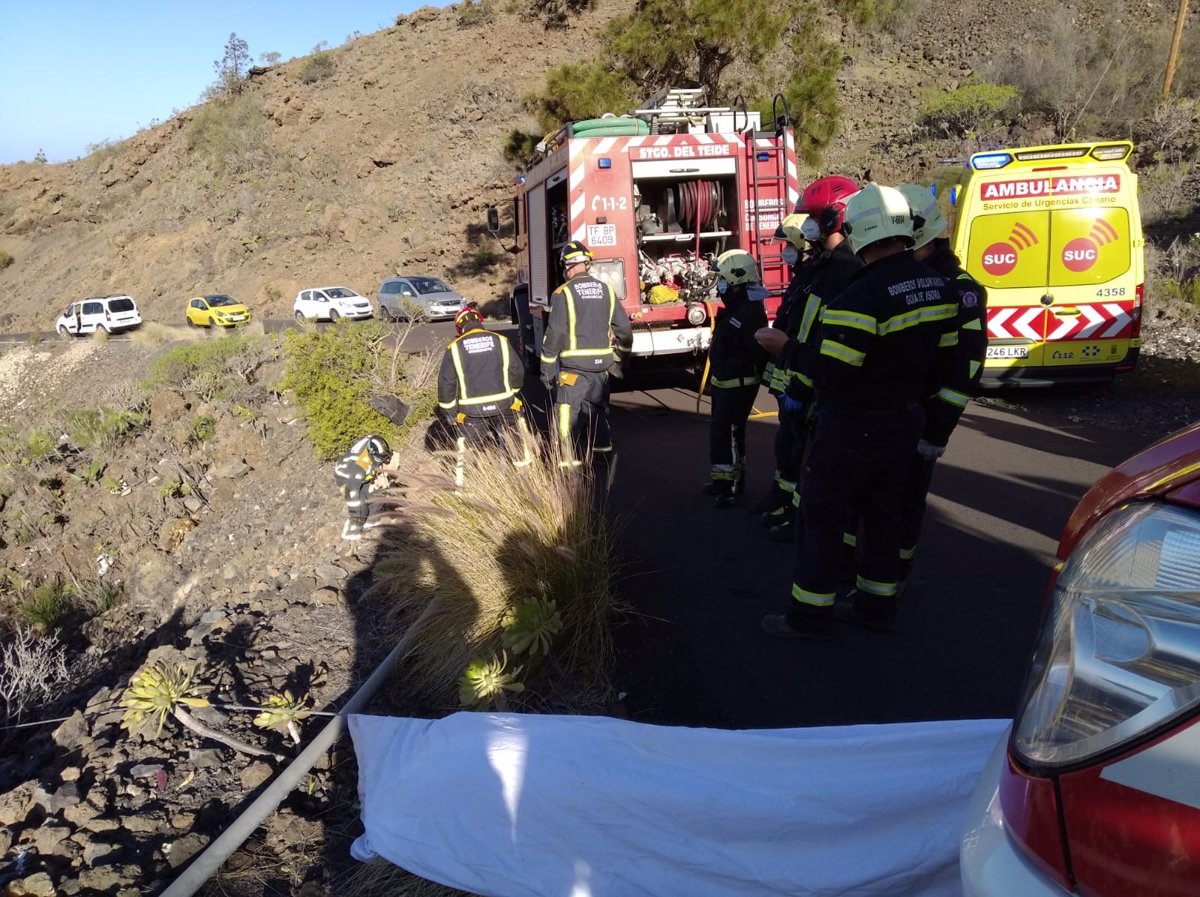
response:
<path id="1" fill-rule="evenodd" d="M 792 601 L 761 628 L 776 638 L 833 637 L 842 535 L 860 520 L 856 588 L 838 619 L 895 627 L 900 505 L 925 427 L 929 385 L 947 381 L 958 297 L 911 252 L 914 219 L 899 191 L 869 183 L 846 201 L 844 233 L 864 267 L 828 302 L 815 344 L 793 361 L 815 387 L 815 431 L 802 476 Z M 758 332 L 769 351 L 786 337 Z"/>

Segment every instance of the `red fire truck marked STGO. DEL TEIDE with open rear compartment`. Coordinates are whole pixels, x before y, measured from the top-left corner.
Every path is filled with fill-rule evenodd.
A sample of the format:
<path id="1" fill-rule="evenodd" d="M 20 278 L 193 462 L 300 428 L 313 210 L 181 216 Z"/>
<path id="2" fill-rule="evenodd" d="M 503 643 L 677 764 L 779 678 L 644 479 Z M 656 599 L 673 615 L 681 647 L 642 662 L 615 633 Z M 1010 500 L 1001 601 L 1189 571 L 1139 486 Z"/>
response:
<path id="1" fill-rule="evenodd" d="M 592 275 L 625 307 L 634 359 L 688 360 L 708 348 L 714 260 L 726 249 L 758 261 L 774 312 L 788 275 L 773 236 L 799 187 L 781 97 L 772 115 L 763 130 L 744 103 L 707 106 L 702 90 L 667 90 L 628 115 L 569 122 L 539 144 L 512 209 L 512 319 L 529 369 L 571 240 L 587 243 Z"/>

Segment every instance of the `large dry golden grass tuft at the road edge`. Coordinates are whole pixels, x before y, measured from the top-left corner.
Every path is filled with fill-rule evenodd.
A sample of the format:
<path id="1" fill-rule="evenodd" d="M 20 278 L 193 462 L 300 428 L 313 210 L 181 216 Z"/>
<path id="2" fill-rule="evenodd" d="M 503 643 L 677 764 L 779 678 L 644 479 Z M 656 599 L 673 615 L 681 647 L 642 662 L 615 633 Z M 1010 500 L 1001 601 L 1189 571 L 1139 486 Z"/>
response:
<path id="1" fill-rule="evenodd" d="M 468 454 L 457 490 L 446 472 L 452 453 L 425 452 L 409 464 L 416 469 L 401 475 L 407 496 L 386 514 L 371 590 L 384 598 L 397 638 L 428 614 L 402 664 L 406 687 L 451 702 L 468 663 L 502 656 L 505 616 L 540 600 L 554 602 L 562 627 L 548 664 L 509 657 L 527 685 L 516 703 L 548 702 L 559 711 L 602 705 L 617 609 L 616 537 L 589 469 L 564 469 L 554 452 L 517 469 L 508 451 L 480 450 Z M 539 673 L 557 679 L 550 685 Z"/>

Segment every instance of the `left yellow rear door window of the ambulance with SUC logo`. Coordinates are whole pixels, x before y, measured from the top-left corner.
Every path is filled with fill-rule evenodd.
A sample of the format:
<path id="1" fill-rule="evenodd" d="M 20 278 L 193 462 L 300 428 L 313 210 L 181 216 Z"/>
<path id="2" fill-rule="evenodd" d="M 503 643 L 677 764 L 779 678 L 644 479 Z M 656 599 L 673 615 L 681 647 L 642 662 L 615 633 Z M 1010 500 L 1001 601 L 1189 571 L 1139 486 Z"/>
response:
<path id="1" fill-rule="evenodd" d="M 962 264 L 984 287 L 1045 288 L 1050 258 L 1049 212 L 978 215 L 970 227 L 971 240 Z"/>

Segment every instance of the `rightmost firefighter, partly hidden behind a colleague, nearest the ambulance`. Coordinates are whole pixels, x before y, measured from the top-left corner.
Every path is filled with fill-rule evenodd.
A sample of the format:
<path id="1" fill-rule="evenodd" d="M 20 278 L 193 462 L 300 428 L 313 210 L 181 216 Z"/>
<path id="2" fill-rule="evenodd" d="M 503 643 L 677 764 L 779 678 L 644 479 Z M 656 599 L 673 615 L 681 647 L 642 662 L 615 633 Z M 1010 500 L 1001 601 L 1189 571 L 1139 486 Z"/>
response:
<path id="1" fill-rule="evenodd" d="M 923 403 L 925 431 L 917 444 L 917 458 L 910 470 L 904 495 L 904 538 L 900 542 L 900 578 L 904 580 L 912 568 L 917 540 L 925 519 L 925 498 L 934 477 L 934 463 L 946 452 L 950 434 L 971 397 L 977 393 L 979 378 L 983 375 L 988 351 L 988 290 L 962 270 L 962 263 L 950 248 L 950 241 L 941 236 L 947 224 L 934 194 L 914 183 L 902 183 L 898 189 L 908 201 L 913 215 L 924 219 L 924 224 L 913 233 L 914 258 L 946 278 L 959 300 L 959 343 L 954 368 L 950 379 L 941 384 L 937 392 Z"/>

